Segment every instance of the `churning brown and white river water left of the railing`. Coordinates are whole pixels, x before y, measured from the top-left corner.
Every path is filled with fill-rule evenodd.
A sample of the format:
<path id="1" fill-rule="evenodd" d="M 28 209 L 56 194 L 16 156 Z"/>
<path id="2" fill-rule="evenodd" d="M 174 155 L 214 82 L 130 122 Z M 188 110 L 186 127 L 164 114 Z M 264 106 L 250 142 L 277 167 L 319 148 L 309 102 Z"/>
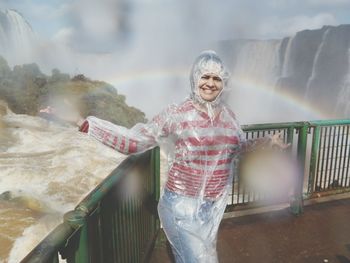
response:
<path id="1" fill-rule="evenodd" d="M 0 199 L 0 262 L 19 262 L 126 156 L 74 127 L 1 112 L 0 194 L 12 196 Z"/>

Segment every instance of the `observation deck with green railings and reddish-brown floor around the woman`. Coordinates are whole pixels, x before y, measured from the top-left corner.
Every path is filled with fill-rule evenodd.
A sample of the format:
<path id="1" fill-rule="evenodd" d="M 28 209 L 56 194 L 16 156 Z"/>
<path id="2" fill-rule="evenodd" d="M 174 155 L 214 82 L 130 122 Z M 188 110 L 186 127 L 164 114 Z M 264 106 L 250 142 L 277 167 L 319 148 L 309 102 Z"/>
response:
<path id="1" fill-rule="evenodd" d="M 233 177 L 218 235 L 220 262 L 350 262 L 350 120 L 243 129 L 248 139 L 282 133 L 301 172 L 292 201 L 269 206 Z M 159 196 L 159 149 L 130 156 L 22 262 L 172 262 Z"/>

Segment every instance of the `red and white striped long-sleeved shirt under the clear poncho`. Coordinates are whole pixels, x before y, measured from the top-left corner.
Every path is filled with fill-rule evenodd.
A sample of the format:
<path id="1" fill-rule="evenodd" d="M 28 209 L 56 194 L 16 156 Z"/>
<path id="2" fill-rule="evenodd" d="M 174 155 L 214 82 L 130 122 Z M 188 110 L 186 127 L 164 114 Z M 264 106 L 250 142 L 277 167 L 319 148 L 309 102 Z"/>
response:
<path id="1" fill-rule="evenodd" d="M 165 111 L 146 124 L 131 129 L 88 117 L 80 131 L 122 153 L 138 153 L 165 140 L 174 146 L 165 187 L 186 196 L 216 199 L 232 172 L 232 160 L 252 145 L 246 141 L 234 113 L 221 105 L 211 119 L 192 100 Z"/>

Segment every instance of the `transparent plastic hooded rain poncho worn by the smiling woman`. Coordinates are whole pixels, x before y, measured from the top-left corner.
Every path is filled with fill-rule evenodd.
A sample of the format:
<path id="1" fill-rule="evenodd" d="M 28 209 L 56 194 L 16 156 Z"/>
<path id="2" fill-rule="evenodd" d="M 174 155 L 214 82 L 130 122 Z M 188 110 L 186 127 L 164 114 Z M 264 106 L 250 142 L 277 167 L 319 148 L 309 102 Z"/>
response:
<path id="1" fill-rule="evenodd" d="M 211 102 L 201 98 L 198 88 L 206 73 L 223 83 Z M 191 70 L 191 95 L 182 103 L 131 129 L 96 117 L 88 117 L 81 127 L 125 154 L 164 143 L 171 149 L 158 212 L 176 262 L 218 262 L 217 232 L 232 187 L 234 160 L 254 144 L 245 140 L 235 114 L 223 102 L 228 76 L 215 52 L 203 52 Z"/>

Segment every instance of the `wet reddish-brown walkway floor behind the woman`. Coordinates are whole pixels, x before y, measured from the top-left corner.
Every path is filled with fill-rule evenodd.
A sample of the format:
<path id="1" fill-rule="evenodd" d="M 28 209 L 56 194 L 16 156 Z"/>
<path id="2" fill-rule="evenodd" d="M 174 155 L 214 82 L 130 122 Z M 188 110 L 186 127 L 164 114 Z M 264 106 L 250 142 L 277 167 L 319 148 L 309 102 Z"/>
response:
<path id="1" fill-rule="evenodd" d="M 350 263 L 350 198 L 224 219 L 217 249 L 220 263 Z M 164 236 L 150 262 L 172 262 Z"/>

